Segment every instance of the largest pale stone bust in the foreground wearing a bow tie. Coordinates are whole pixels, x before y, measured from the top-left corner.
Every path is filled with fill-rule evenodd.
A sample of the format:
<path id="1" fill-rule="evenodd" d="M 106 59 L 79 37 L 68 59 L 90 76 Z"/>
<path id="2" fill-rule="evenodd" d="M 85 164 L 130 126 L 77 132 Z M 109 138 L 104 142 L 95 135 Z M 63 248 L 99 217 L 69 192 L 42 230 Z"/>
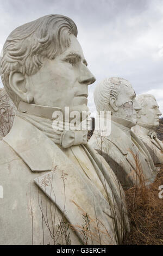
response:
<path id="1" fill-rule="evenodd" d="M 17 113 L 0 143 L 0 244 L 121 243 L 128 229 L 122 187 L 87 145 L 87 130 L 67 129 L 72 112 L 81 123 L 89 117 L 87 86 L 95 82 L 75 23 L 47 15 L 16 28 L 3 47 L 1 76 Z"/>

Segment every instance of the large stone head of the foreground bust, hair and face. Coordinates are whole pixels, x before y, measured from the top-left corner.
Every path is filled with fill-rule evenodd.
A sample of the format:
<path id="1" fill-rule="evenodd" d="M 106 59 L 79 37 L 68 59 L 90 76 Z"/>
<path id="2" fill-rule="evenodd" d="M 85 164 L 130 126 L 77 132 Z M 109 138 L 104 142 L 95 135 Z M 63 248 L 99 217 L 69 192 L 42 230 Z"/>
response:
<path id="1" fill-rule="evenodd" d="M 41 17 L 11 32 L 3 47 L 1 77 L 16 106 L 23 101 L 80 110 L 87 105 L 87 86 L 95 82 L 75 23 L 61 15 Z"/>

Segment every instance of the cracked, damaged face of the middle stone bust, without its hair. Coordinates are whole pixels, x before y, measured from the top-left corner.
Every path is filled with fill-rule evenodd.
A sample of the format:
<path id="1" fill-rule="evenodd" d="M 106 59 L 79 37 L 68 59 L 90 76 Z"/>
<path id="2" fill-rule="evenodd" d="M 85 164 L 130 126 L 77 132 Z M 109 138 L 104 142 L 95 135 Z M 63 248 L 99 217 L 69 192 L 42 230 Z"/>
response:
<path id="1" fill-rule="evenodd" d="M 139 103 L 135 99 L 136 94 L 130 84 L 121 85 L 117 99 L 117 117 L 121 117 L 130 121 L 134 121 L 134 112 L 141 109 Z"/>

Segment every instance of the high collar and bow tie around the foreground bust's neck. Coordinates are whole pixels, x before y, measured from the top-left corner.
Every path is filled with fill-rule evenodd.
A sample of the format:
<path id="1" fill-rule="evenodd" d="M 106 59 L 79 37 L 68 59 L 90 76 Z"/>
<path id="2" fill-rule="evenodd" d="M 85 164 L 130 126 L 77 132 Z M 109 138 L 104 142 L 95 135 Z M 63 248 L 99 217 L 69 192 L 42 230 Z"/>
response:
<path id="1" fill-rule="evenodd" d="M 54 143 L 59 144 L 63 148 L 86 144 L 87 130 L 80 130 L 81 125 L 76 127 L 70 123 L 54 119 L 54 111 L 61 111 L 61 108 L 20 102 L 17 116 L 34 125 L 52 139 Z"/>

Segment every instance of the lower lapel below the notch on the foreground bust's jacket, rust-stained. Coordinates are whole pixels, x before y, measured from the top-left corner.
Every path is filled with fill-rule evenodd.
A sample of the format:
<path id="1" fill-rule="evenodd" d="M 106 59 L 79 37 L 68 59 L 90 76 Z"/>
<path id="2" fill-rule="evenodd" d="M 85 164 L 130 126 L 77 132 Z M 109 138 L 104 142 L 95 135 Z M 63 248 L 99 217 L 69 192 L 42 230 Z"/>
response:
<path id="1" fill-rule="evenodd" d="M 56 161 L 56 168 L 52 172 L 36 178 L 36 184 L 58 206 L 81 240 L 83 240 L 82 230 L 85 224 L 83 217 L 87 214 L 90 220 L 93 243 L 116 244 L 115 231 L 112 225 L 114 215 L 111 214 L 108 202 L 86 175 L 80 173 L 73 164 L 68 163 L 64 153 L 59 157 L 62 158 L 62 169 L 58 165 L 60 160 Z M 58 157 L 56 157 L 57 159 Z M 64 170 L 65 168 L 66 170 Z M 109 237 L 108 234 L 112 237 Z M 88 241 L 91 244 L 91 237 Z"/>

